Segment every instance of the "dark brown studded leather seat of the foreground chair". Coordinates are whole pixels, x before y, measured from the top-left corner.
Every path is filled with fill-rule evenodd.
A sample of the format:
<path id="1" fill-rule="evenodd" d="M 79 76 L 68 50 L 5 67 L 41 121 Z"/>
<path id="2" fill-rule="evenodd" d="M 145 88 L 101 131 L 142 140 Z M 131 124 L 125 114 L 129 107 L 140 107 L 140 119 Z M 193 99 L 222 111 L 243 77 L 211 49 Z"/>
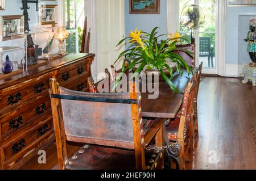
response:
<path id="1" fill-rule="evenodd" d="M 145 154 L 148 170 L 155 169 L 160 164 L 159 158 L 163 156 L 161 151 L 154 149 L 145 150 Z M 84 145 L 65 162 L 65 166 L 69 170 L 135 170 L 135 153 L 134 150 Z"/>

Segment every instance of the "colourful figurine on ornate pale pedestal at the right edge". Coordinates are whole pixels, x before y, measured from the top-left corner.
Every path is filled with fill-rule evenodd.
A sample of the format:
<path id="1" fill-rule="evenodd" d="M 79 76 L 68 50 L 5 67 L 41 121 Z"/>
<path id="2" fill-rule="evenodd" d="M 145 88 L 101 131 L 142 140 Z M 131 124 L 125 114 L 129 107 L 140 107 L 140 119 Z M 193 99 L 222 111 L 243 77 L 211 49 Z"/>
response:
<path id="1" fill-rule="evenodd" d="M 253 61 L 251 64 L 246 65 L 243 68 L 243 74 L 245 74 L 245 78 L 243 79 L 242 83 L 247 83 L 248 81 L 251 81 L 253 83 L 253 86 L 256 86 L 256 19 L 253 18 L 250 20 L 250 31 L 247 33 L 247 39 L 245 39 L 246 42 L 248 42 L 247 45 L 247 52 L 249 52 L 249 56 L 251 58 L 251 61 Z"/>

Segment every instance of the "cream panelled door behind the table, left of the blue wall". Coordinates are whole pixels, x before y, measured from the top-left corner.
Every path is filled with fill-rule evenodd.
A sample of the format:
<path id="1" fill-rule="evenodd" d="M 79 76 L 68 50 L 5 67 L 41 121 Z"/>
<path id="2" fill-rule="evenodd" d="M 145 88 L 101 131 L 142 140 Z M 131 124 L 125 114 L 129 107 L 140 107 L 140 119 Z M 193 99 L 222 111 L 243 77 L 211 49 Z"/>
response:
<path id="1" fill-rule="evenodd" d="M 125 47 L 115 47 L 125 36 L 125 5 L 123 0 L 96 1 L 97 74 L 118 58 Z M 98 77 L 101 79 L 101 77 Z"/>

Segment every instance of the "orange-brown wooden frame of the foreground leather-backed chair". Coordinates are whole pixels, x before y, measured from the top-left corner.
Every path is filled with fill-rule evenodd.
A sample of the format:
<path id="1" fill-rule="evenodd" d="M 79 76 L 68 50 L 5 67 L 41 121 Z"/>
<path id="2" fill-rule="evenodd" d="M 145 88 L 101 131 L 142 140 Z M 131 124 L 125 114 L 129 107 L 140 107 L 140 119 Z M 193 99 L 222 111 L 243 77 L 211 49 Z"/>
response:
<path id="1" fill-rule="evenodd" d="M 57 145 L 57 157 L 59 162 L 59 169 L 67 169 L 67 165 L 69 163 L 68 152 L 67 152 L 67 141 L 75 141 L 75 142 L 85 142 L 88 144 L 100 144 L 102 142 L 105 143 L 105 146 L 116 146 L 110 142 L 100 141 L 92 141 L 76 137 L 76 136 L 67 136 L 67 132 L 65 132 L 64 127 L 64 116 L 63 110 L 61 106 L 61 99 L 68 100 L 84 100 L 87 101 L 88 98 L 92 98 L 92 93 L 81 93 L 77 91 L 65 90 L 65 93 L 68 92 L 68 95 L 61 94 L 62 87 L 59 87 L 59 84 L 56 82 L 56 79 L 50 79 L 50 94 L 51 94 L 51 105 L 52 105 L 52 115 L 53 115 L 53 125 L 55 128 L 55 136 L 56 136 L 56 145 Z M 73 94 L 73 93 L 74 94 Z M 80 96 L 76 96 L 76 95 Z M 84 94 L 81 96 L 81 94 Z M 129 145 L 127 149 L 135 150 L 135 161 L 137 169 L 163 169 L 163 151 L 159 151 L 154 162 L 146 163 L 145 161 L 145 149 L 148 144 L 150 144 L 151 140 L 155 137 L 155 145 L 163 146 L 163 123 L 164 120 L 156 121 L 154 125 L 152 125 L 152 129 L 148 130 L 148 132 L 143 132 L 143 121 L 142 121 L 142 112 L 141 112 L 141 95 L 136 90 L 135 83 L 130 83 L 130 92 L 126 93 L 129 96 L 129 100 L 134 100 L 137 103 L 133 102 L 131 104 L 131 117 L 133 119 L 133 136 L 134 136 L 134 145 Z M 103 94 L 95 94 L 96 97 L 100 98 Z M 94 98 L 94 97 L 93 97 Z M 112 96 L 109 96 L 109 101 L 112 100 Z M 117 99 L 117 96 L 114 95 L 114 98 Z M 127 100 L 127 99 L 126 99 Z M 102 100 L 101 100 L 102 101 Z M 123 100 L 121 100 L 123 101 Z M 97 101 L 95 101 L 97 102 Z M 66 141 L 67 140 L 67 141 Z M 119 147 L 119 146 L 118 146 Z M 126 148 L 126 145 L 123 145 L 122 148 Z M 152 160 L 152 159 L 151 159 Z M 160 162 L 160 163 L 159 163 Z M 157 164 L 158 163 L 158 164 Z M 150 166 L 148 166 L 150 165 Z M 106 168 L 108 169 L 108 168 Z"/>

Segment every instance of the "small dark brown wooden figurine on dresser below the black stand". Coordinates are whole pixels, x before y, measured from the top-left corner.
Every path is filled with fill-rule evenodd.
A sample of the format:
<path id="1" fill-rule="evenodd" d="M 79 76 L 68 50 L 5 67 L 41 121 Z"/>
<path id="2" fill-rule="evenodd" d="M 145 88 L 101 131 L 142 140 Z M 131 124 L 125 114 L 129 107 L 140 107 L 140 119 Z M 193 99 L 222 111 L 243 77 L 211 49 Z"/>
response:
<path id="1" fill-rule="evenodd" d="M 42 56 L 42 48 L 38 45 L 34 47 L 34 41 L 31 35 L 27 35 L 27 65 L 34 65 L 38 63 L 38 57 Z"/>

